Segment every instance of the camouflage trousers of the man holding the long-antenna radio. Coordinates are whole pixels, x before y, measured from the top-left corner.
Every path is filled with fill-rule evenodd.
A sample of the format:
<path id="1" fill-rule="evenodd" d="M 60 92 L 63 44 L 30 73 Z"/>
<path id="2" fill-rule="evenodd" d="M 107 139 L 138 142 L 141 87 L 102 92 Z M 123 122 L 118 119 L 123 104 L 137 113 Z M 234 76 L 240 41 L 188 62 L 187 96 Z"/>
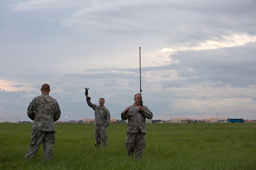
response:
<path id="1" fill-rule="evenodd" d="M 126 132 L 125 147 L 127 148 L 126 155 L 133 156 L 135 148 L 135 158 L 141 158 L 143 149 L 146 147 L 145 133 Z"/>

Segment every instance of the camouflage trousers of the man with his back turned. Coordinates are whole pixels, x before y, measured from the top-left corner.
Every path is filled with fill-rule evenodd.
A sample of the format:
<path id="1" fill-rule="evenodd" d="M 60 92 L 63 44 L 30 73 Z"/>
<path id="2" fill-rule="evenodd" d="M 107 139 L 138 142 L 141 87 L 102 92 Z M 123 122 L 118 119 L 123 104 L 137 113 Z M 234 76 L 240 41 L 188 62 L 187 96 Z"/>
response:
<path id="1" fill-rule="evenodd" d="M 55 134 L 56 132 L 47 132 L 40 130 L 32 130 L 31 139 L 29 143 L 29 150 L 25 156 L 25 159 L 35 158 L 36 154 L 43 142 L 43 151 L 45 161 L 52 159 L 52 149 L 53 144 L 55 142 Z"/>

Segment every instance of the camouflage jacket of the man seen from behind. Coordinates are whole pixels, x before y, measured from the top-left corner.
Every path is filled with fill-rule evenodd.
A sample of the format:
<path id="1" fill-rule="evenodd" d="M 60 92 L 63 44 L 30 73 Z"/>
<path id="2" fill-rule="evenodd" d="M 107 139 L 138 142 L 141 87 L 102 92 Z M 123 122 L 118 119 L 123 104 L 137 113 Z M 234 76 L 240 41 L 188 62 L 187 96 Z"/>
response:
<path id="1" fill-rule="evenodd" d="M 54 122 L 60 118 L 60 113 L 57 100 L 44 93 L 31 101 L 27 115 L 34 120 L 32 129 L 55 132 Z"/>

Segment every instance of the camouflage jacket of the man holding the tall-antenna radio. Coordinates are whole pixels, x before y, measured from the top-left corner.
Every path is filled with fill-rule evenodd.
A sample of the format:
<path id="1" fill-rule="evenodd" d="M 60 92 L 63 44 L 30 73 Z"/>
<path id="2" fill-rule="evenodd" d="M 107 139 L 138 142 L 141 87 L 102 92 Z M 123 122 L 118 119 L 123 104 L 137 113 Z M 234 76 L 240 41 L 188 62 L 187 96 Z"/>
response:
<path id="1" fill-rule="evenodd" d="M 146 118 L 152 119 L 153 113 L 145 105 L 143 105 L 143 112 L 140 112 L 134 104 L 129 107 L 131 109 L 127 113 L 125 113 L 125 110 L 121 113 L 122 120 L 128 119 L 127 131 L 132 133 L 138 133 L 140 129 L 142 133 L 147 133 L 145 126 Z"/>

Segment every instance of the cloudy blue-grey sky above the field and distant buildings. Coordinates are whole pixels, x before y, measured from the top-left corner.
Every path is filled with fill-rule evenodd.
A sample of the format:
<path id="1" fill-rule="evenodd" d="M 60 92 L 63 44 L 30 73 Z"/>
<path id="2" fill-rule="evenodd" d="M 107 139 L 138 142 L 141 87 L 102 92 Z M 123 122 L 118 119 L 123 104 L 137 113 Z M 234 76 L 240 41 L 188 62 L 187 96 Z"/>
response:
<path id="1" fill-rule="evenodd" d="M 1 0 L 0 118 L 31 121 L 27 107 L 47 83 L 60 121 L 94 119 L 84 88 L 114 119 L 141 89 L 153 120 L 255 120 L 255 9 L 255 0 Z"/>

